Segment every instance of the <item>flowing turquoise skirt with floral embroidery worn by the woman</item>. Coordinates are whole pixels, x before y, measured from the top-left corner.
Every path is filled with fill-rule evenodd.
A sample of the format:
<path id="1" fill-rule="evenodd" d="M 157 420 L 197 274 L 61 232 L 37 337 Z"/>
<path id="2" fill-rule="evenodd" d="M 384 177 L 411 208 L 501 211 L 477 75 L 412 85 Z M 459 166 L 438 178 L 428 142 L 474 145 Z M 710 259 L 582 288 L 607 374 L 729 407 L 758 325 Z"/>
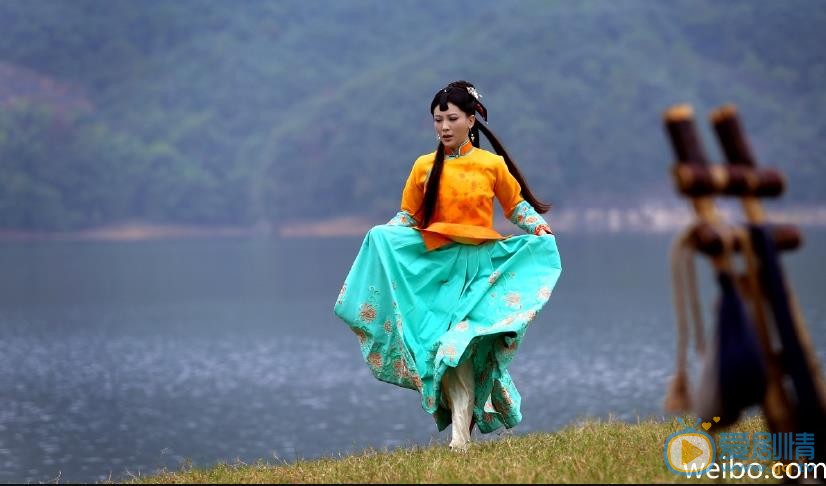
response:
<path id="1" fill-rule="evenodd" d="M 427 251 L 418 230 L 380 225 L 365 236 L 334 311 L 381 381 L 419 391 L 438 430 L 448 367 L 472 360 L 482 433 L 522 420 L 508 364 L 562 272 L 553 235 L 512 236 Z"/>

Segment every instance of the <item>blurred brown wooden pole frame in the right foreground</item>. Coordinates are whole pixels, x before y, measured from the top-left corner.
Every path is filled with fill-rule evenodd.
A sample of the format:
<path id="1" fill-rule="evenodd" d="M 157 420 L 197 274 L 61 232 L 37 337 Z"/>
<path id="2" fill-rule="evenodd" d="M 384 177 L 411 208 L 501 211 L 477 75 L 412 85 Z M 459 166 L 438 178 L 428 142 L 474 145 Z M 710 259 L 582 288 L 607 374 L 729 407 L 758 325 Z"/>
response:
<path id="1" fill-rule="evenodd" d="M 725 153 L 725 165 L 708 163 L 690 106 L 678 105 L 668 109 L 664 123 L 676 157 L 672 169 L 675 186 L 690 200 L 696 216 L 696 222 L 685 233 L 686 241 L 694 250 L 708 256 L 716 271 L 735 275 L 739 294 L 747 302 L 766 367 L 766 391 L 761 407 L 768 426 L 773 433 L 814 433 L 815 458 L 823 462 L 826 453 L 826 394 L 820 367 L 794 292 L 782 278 L 779 262 L 768 261 L 753 251 L 759 246 L 755 235 L 761 234 L 769 235 L 771 249 L 777 250 L 777 254 L 800 245 L 801 236 L 797 228 L 766 225 L 760 203 L 761 197 L 782 194 L 784 178 L 776 170 L 757 166 L 732 106 L 719 108 L 711 115 L 711 123 Z M 715 208 L 714 196 L 739 198 L 747 226 L 725 224 Z M 762 233 L 764 230 L 767 231 Z M 738 254 L 747 263 L 743 274 L 735 269 L 734 259 Z M 766 269 L 777 270 L 774 282 L 767 280 Z M 780 278 L 777 278 L 778 275 Z M 678 321 L 681 319 L 684 320 L 684 316 L 678 315 Z M 682 325 L 680 329 L 678 339 L 685 341 L 687 327 Z M 702 342 L 698 342 L 698 350 L 702 351 L 702 348 Z M 681 359 L 684 362 L 685 358 L 685 350 L 678 347 L 678 363 Z M 685 383 L 678 385 L 686 386 Z M 687 405 L 687 400 L 672 400 L 667 407 L 677 411 L 687 408 Z"/>

